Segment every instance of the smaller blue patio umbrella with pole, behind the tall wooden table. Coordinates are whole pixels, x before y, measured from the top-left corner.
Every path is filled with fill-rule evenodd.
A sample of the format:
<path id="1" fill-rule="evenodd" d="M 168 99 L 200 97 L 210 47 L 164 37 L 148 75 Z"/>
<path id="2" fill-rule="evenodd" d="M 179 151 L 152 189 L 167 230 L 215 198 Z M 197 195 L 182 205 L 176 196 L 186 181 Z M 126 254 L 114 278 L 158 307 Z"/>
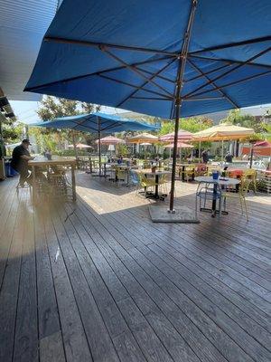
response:
<path id="1" fill-rule="evenodd" d="M 98 158 L 99 175 L 101 174 L 101 133 L 115 133 L 127 130 L 158 130 L 154 125 L 141 123 L 133 119 L 124 119 L 118 115 L 102 112 L 79 114 L 78 116 L 61 117 L 58 119 L 47 120 L 39 123 L 33 123 L 33 127 L 45 127 L 47 129 L 74 129 L 82 132 L 98 133 Z"/>

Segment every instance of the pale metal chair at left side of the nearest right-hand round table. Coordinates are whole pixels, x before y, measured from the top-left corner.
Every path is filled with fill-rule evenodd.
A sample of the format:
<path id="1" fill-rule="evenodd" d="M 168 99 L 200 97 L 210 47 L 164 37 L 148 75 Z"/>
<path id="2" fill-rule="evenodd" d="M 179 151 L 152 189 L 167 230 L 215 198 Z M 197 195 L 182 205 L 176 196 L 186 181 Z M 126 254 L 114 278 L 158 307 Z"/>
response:
<path id="1" fill-rule="evenodd" d="M 198 212 L 198 198 L 200 198 L 200 210 L 201 210 L 201 202 L 203 201 L 203 208 L 206 208 L 207 201 L 219 201 L 219 211 L 220 215 L 222 212 L 221 209 L 221 199 L 222 193 L 220 189 L 220 185 L 216 182 L 203 183 L 200 182 L 197 191 L 196 191 L 196 215 Z"/>

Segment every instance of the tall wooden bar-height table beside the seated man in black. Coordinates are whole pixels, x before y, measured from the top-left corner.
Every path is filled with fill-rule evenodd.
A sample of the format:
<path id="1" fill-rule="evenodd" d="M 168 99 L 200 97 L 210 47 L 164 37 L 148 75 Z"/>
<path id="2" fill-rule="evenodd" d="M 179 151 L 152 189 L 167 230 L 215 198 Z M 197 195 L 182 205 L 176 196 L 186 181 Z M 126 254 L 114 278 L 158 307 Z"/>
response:
<path id="1" fill-rule="evenodd" d="M 71 190 L 72 190 L 72 199 L 76 201 L 76 184 L 75 184 L 75 167 L 76 159 L 75 158 L 66 158 L 66 157 L 53 157 L 51 160 L 47 158 L 36 158 L 31 161 L 28 161 L 28 165 L 32 167 L 33 175 L 33 202 L 37 200 L 37 179 L 36 179 L 36 170 L 37 167 L 53 167 L 53 166 L 70 166 L 71 167 Z"/>

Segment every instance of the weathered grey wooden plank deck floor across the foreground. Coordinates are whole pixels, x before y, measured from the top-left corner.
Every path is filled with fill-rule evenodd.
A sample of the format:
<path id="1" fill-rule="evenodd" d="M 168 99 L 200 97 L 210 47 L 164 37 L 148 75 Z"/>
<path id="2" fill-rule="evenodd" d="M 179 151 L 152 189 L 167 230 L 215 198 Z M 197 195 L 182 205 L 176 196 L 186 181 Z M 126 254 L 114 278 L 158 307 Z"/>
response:
<path id="1" fill-rule="evenodd" d="M 78 202 L 0 184 L 0 361 L 271 361 L 271 198 L 153 224 L 135 190 L 78 175 Z M 177 203 L 194 205 L 195 185 Z"/>

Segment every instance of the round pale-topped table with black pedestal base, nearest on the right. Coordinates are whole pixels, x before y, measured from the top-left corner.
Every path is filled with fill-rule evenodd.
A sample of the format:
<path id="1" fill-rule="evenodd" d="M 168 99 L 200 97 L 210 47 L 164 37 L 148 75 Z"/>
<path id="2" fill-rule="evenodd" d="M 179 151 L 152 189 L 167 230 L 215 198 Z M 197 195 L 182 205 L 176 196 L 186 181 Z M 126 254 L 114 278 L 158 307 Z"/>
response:
<path id="1" fill-rule="evenodd" d="M 195 181 L 204 184 L 213 184 L 213 194 L 216 195 L 218 192 L 218 185 L 220 186 L 237 186 L 240 183 L 238 178 L 230 178 L 230 177 L 220 177 L 218 180 L 212 178 L 212 176 L 198 176 L 195 177 Z M 213 197 L 211 208 L 201 207 L 201 211 L 210 212 L 214 217 L 215 214 L 220 211 L 217 210 L 217 198 Z M 229 214 L 227 211 L 222 211 L 222 214 Z"/>

